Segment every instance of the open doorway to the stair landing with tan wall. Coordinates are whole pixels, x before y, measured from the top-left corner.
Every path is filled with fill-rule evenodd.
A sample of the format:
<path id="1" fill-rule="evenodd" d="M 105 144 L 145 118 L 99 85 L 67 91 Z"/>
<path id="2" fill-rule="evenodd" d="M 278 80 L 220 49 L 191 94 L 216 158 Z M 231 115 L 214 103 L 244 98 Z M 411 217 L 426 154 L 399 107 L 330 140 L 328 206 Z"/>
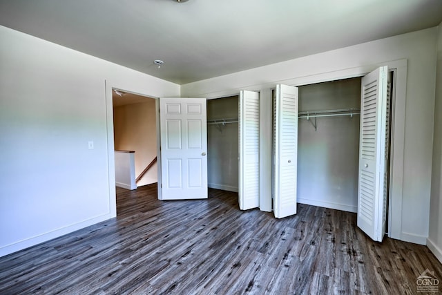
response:
<path id="1" fill-rule="evenodd" d="M 155 99 L 115 88 L 112 97 L 115 184 L 124 189 L 137 189 L 156 183 Z"/>

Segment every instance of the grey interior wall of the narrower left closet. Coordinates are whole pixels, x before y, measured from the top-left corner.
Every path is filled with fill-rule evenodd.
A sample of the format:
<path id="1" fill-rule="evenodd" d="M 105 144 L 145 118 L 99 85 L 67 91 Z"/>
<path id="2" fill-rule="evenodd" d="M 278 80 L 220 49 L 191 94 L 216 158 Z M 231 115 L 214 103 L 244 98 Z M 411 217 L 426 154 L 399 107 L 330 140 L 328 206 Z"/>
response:
<path id="1" fill-rule="evenodd" d="M 207 122 L 208 186 L 238 192 L 238 96 L 208 99 Z"/>

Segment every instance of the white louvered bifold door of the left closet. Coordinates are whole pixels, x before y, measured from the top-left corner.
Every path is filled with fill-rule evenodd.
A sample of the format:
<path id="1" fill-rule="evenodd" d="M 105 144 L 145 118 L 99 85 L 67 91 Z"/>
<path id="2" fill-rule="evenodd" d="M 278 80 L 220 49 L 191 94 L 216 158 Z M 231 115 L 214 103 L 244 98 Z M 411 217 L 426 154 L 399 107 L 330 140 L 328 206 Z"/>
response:
<path id="1" fill-rule="evenodd" d="M 239 100 L 239 193 L 241 210 L 260 205 L 260 95 L 241 91 Z"/>

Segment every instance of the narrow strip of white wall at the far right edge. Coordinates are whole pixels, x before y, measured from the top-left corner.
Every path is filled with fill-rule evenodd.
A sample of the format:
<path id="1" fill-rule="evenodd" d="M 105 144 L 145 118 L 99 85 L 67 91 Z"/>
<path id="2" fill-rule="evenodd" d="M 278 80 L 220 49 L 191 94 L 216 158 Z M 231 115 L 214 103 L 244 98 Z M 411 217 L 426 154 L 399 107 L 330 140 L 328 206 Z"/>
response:
<path id="1" fill-rule="evenodd" d="M 442 263 L 442 23 L 439 25 L 436 66 L 430 234 L 427 245 Z"/>

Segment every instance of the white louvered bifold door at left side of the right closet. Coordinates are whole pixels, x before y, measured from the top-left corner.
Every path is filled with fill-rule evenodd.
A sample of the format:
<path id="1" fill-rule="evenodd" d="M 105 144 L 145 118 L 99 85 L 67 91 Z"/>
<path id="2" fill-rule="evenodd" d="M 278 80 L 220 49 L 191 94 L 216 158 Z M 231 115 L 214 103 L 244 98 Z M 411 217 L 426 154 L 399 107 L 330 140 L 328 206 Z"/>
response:
<path id="1" fill-rule="evenodd" d="M 273 133 L 273 213 L 284 218 L 296 214 L 298 88 L 276 86 Z"/>

